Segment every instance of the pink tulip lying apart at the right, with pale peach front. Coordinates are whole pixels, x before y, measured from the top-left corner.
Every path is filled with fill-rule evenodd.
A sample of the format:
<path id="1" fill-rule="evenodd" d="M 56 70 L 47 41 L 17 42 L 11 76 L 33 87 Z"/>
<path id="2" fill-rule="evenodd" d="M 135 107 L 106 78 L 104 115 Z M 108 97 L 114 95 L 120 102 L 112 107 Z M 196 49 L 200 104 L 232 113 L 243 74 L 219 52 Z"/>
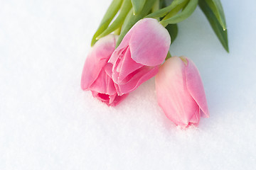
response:
<path id="1" fill-rule="evenodd" d="M 156 75 L 159 106 L 176 125 L 198 125 L 209 117 L 206 94 L 196 65 L 186 57 L 171 57 Z"/>

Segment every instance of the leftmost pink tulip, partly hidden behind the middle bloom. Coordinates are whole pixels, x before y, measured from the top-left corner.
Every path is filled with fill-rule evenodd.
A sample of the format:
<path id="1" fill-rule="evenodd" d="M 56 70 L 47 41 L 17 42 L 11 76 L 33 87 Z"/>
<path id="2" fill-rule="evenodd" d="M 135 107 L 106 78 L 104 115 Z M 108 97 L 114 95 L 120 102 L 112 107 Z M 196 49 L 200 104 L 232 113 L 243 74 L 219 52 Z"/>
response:
<path id="1" fill-rule="evenodd" d="M 117 95 L 114 81 L 111 78 L 112 64 L 107 63 L 114 52 L 116 39 L 116 35 L 107 35 L 98 40 L 87 56 L 82 70 L 82 90 L 92 91 L 92 96 L 108 106 L 116 106 L 127 96 L 127 94 Z"/>

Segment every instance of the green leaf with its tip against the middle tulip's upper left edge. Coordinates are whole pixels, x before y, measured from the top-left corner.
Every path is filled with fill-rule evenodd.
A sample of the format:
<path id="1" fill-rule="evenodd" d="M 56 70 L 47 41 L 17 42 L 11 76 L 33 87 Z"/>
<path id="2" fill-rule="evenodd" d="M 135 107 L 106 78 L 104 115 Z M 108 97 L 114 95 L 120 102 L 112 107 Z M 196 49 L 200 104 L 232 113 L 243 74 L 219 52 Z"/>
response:
<path id="1" fill-rule="evenodd" d="M 133 13 L 132 13 L 132 9 L 131 9 L 131 11 L 129 11 L 129 13 L 127 15 L 127 18 L 125 18 L 125 20 L 124 20 L 124 24 L 122 26 L 121 33 L 120 33 L 119 38 L 117 40 L 116 47 L 118 47 L 118 45 L 120 44 L 120 42 L 124 38 L 124 35 L 127 34 L 127 32 L 132 28 L 132 26 L 134 26 L 134 24 L 137 23 L 137 21 L 144 18 L 146 16 L 146 14 L 149 13 L 149 11 L 151 10 L 155 1 L 156 0 L 147 0 L 144 7 L 142 8 L 142 11 L 138 15 L 134 16 Z"/>

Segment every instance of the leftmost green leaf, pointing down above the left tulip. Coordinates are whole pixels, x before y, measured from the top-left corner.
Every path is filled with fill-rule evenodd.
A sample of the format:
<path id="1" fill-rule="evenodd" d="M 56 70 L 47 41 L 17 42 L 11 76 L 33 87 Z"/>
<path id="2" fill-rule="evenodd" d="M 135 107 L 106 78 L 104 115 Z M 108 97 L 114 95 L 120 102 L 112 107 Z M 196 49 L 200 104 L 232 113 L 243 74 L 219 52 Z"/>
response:
<path id="1" fill-rule="evenodd" d="M 110 22 L 119 11 L 120 6 L 122 5 L 122 0 L 113 0 L 110 4 L 110 7 L 107 9 L 105 16 L 102 18 L 99 28 L 97 29 L 95 35 L 92 37 L 91 46 L 97 41 L 96 38 L 99 36 L 106 28 L 110 25 Z"/>

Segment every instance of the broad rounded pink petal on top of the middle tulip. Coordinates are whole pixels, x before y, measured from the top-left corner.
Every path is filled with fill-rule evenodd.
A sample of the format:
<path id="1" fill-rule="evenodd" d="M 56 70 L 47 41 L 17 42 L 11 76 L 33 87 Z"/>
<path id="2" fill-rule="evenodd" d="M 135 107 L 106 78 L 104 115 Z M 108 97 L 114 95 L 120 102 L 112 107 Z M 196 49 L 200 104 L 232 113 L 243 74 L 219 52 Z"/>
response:
<path id="1" fill-rule="evenodd" d="M 132 59 L 147 66 L 162 64 L 171 44 L 171 38 L 164 26 L 154 18 L 144 18 L 133 28 L 129 40 Z"/>

